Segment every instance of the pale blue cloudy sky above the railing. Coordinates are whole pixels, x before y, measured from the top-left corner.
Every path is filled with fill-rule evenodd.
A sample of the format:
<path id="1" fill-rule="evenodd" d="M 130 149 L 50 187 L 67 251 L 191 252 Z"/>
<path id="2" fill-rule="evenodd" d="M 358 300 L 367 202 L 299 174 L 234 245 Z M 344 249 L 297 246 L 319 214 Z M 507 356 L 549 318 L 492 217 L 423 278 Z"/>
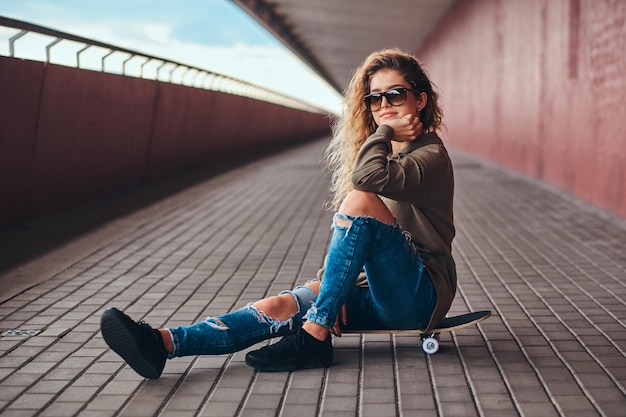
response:
<path id="1" fill-rule="evenodd" d="M 325 110 L 340 109 L 339 93 L 230 0 L 0 0 L 0 16 L 230 75 Z M 0 54 L 7 54 L 15 33 L 0 31 Z M 36 59 L 24 47 L 36 36 L 28 36 L 16 41 L 16 56 Z M 59 55 L 69 47 L 53 49 Z M 45 48 L 37 50 L 45 56 Z M 76 54 L 71 56 L 75 62 Z M 72 65 L 56 59 L 53 55 L 53 63 Z"/>

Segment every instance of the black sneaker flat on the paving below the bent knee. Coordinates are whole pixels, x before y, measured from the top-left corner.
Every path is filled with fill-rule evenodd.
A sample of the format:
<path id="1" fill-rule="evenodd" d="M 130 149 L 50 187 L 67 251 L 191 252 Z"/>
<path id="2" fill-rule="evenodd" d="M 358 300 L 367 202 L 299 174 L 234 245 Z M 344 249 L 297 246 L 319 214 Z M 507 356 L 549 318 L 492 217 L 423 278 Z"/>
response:
<path id="1" fill-rule="evenodd" d="M 246 364 L 259 371 L 286 372 L 297 369 L 326 368 L 333 364 L 333 344 L 328 335 L 320 342 L 302 328 L 280 342 L 248 352 Z"/>

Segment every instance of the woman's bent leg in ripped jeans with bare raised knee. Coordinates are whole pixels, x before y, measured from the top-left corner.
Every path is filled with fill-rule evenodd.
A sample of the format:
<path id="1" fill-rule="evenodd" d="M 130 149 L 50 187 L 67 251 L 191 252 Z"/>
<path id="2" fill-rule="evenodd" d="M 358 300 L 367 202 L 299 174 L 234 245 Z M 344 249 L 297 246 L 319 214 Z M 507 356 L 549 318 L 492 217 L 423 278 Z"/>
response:
<path id="1" fill-rule="evenodd" d="M 425 276 L 419 256 L 376 194 L 353 191 L 335 215 L 324 280 L 315 305 L 307 313 L 304 330 L 318 340 L 327 337 L 341 304 L 363 268 L 372 287 L 375 311 L 381 313 L 384 322 L 412 312 L 415 288 Z M 426 281 L 429 280 L 426 278 Z M 382 314 L 387 309 L 394 313 Z M 404 321 L 398 326 L 406 327 L 410 325 L 408 322 L 416 325 L 413 318 L 406 320 L 405 317 Z"/>

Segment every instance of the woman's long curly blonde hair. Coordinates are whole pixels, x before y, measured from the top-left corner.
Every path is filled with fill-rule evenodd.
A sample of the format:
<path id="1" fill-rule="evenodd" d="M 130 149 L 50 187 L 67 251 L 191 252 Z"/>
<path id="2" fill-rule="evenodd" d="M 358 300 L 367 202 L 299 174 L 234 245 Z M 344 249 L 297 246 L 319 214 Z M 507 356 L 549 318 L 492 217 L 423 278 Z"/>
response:
<path id="1" fill-rule="evenodd" d="M 355 70 L 344 91 L 343 112 L 333 121 L 333 137 L 326 148 L 327 164 L 332 172 L 331 192 L 334 194 L 331 206 L 335 210 L 353 189 L 350 174 L 361 145 L 378 127 L 363 97 L 370 93 L 370 80 L 380 70 L 396 70 L 414 91 L 426 93 L 426 107 L 419 115 L 424 132 L 437 132 L 441 126 L 443 112 L 438 103 L 439 94 L 417 58 L 399 49 L 383 49 L 370 54 Z"/>

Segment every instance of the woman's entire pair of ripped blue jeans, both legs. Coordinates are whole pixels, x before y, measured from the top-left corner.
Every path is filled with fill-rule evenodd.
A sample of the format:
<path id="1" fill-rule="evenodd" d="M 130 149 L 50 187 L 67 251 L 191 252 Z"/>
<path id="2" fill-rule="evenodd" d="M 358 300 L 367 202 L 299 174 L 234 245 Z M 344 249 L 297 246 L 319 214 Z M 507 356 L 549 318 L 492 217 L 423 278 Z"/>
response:
<path id="1" fill-rule="evenodd" d="M 337 224 L 339 219 L 342 224 Z M 362 270 L 368 287 L 354 285 Z M 169 357 L 237 352 L 284 336 L 301 326 L 303 320 L 331 328 L 344 303 L 348 319 L 345 328 L 422 328 L 437 303 L 435 288 L 419 254 L 397 224 L 343 214 L 335 214 L 333 219 L 319 295 L 304 286 L 283 293 L 290 293 L 298 307 L 288 320 L 275 320 L 248 304 L 190 326 L 169 329 L 174 342 Z"/>

